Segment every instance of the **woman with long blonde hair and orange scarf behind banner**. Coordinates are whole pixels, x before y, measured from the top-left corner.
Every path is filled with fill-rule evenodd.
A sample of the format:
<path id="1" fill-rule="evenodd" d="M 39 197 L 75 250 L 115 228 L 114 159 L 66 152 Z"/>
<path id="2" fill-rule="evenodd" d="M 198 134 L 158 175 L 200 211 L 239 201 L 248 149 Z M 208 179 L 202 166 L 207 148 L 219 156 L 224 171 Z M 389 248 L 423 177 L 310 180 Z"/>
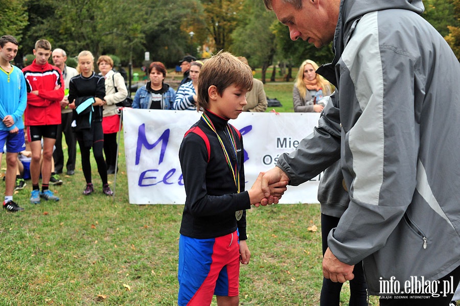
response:
<path id="1" fill-rule="evenodd" d="M 331 85 L 316 69 L 318 65 L 309 59 L 298 68 L 292 91 L 295 112 L 321 112 L 325 106 L 321 98 L 331 95 Z"/>

